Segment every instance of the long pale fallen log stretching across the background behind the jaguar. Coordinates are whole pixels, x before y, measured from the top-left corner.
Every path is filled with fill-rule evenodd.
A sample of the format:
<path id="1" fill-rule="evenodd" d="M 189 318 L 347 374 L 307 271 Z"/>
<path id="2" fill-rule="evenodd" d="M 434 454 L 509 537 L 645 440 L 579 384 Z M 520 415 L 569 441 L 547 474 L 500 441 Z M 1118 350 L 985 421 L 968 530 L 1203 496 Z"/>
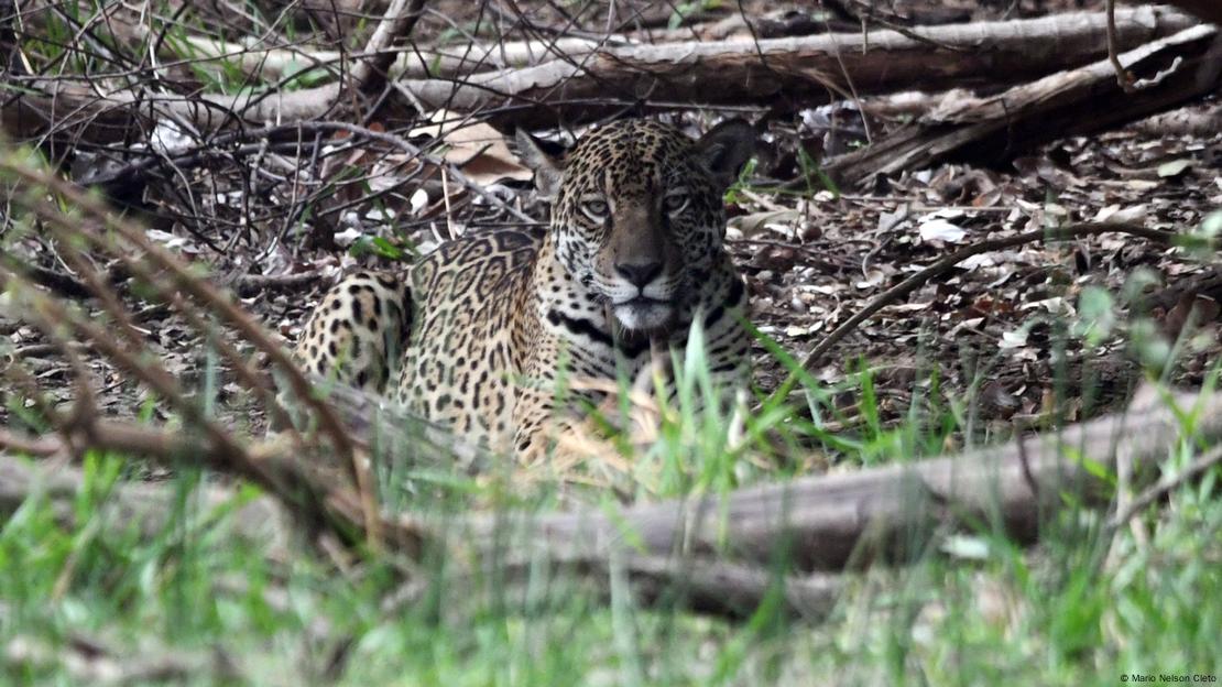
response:
<path id="1" fill-rule="evenodd" d="M 1117 12 L 1118 44 L 1140 45 L 1193 23 L 1163 9 Z M 497 110 L 501 125 L 583 120 L 624 105 L 675 103 L 759 105 L 782 100 L 825 103 L 833 94 L 946 89 L 1025 81 L 1097 59 L 1106 53 L 1106 17 L 1068 13 L 1026 21 L 949 24 L 919 29 L 921 39 L 893 31 L 769 40 L 727 40 L 606 48 L 565 55 L 522 70 L 462 81 L 402 79 L 396 88 L 426 110 Z M 379 55 L 385 53 L 379 51 Z M 338 101 L 336 84 L 296 92 L 237 95 L 105 92 L 87 83 L 10 76 L 15 94 L 0 105 L 4 128 L 29 139 L 77 131 L 87 141 L 125 141 L 137 120 L 170 115 L 200 131 L 324 116 Z M 716 83 L 716 88 L 710 88 Z"/>

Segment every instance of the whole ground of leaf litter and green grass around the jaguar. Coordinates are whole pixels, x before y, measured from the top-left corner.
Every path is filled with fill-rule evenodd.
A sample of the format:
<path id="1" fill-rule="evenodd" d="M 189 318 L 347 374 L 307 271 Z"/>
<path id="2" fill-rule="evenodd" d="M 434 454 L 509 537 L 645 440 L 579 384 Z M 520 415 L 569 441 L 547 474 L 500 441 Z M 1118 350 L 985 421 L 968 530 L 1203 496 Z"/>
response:
<path id="1" fill-rule="evenodd" d="M 241 6 L 255 5 L 252 0 Z M 292 5 L 301 10 L 309 4 Z M 822 0 L 818 7 L 835 5 Z M 918 23 L 938 23 L 1099 10 L 1103 2 L 838 5 L 912 12 L 920 15 Z M 574 7 L 580 12 L 593 7 L 593 15 L 606 4 L 435 0 L 414 37 L 423 42 L 450 35 L 461 42 L 464 35 L 456 27 L 477 16 L 506 26 L 525 16 L 511 17 L 505 6 L 514 12 L 527 9 L 535 26 L 519 33 L 534 37 L 554 35 L 544 28 L 557 26 L 574 35 L 644 31 L 673 40 L 745 32 L 736 23 L 733 2 L 616 0 L 623 21 L 609 27 L 571 16 L 578 11 Z M 799 6 L 809 10 L 814 4 Z M 132 12 L 133 5 L 109 7 L 122 13 Z M 143 7 L 176 7 L 183 12 L 175 17 L 185 31 L 200 35 L 215 31 L 226 39 L 258 34 L 246 31 L 251 27 L 243 22 L 259 28 L 262 21 L 251 20 L 253 12 L 226 12 L 233 6 L 225 0 Z M 741 7 L 755 16 L 772 12 L 775 2 L 744 0 Z M 60 18 L 75 21 L 65 16 Z M 800 16 L 794 10 L 774 18 L 792 28 L 786 22 Z M 351 29 L 348 48 L 359 50 L 376 22 L 349 20 L 340 39 Z M 704 27 L 699 31 L 684 23 L 698 20 Z M 275 40 L 297 40 L 297 27 L 277 22 L 269 32 Z M 676 29 L 677 24 L 683 26 Z M 100 32 L 105 22 L 90 27 Z M 860 28 L 836 12 L 819 18 L 819 31 L 829 27 Z M 673 31 L 687 33 L 666 33 Z M 181 38 L 171 33 L 165 35 Z M 64 35 L 68 37 L 64 40 L 95 38 L 83 29 Z M 81 53 L 87 56 L 72 64 L 109 73 L 112 64 L 98 55 L 121 42 L 86 43 Z M 330 45 L 319 40 L 313 46 Z M 60 73 L 68 64 L 60 60 L 55 40 L 27 37 L 23 46 L 26 57 L 37 57 L 31 62 L 44 70 L 40 73 Z M 125 76 L 128 64 L 143 64 L 138 57 L 125 57 Z M 178 79 L 181 92 L 203 88 L 205 77 L 218 79 L 208 86 L 246 88 L 236 67 L 218 76 L 230 67 L 185 59 L 166 66 L 165 73 L 167 82 Z M 242 78 L 226 81 L 233 75 Z M 843 101 L 794 111 L 769 104 L 717 112 L 676 106 L 661 115 L 692 134 L 722 115 L 766 120 L 755 163 L 726 194 L 727 244 L 745 276 L 759 330 L 753 351 L 756 400 L 786 388 L 782 380 L 816 346 L 880 295 L 967 246 L 1085 221 L 1124 221 L 1183 237 L 1216 238 L 1222 232 L 1222 131 L 1176 123 L 1200 121 L 1200 115 L 1216 122 L 1222 111 L 1216 93 L 1177 110 L 1179 119 L 1063 137 L 989 161 L 937 164 L 864 187 L 836 187 L 821 171 L 835 156 L 880 141 L 920 116 L 921 109 L 898 103 L 879 95 L 864 99 L 860 108 Z M 880 104 L 887 108 L 875 108 Z M 874 114 L 863 119 L 862 110 Z M 891 114 L 879 114 L 884 110 Z M 403 117 L 403 110 L 392 115 Z M 149 139 L 172 134 L 174 127 L 163 123 L 141 133 Z M 202 152 L 139 185 L 108 186 L 109 202 L 139 222 L 149 240 L 233 292 L 286 344 L 298 336 L 323 292 L 345 271 L 357 266 L 397 271 L 447 238 L 545 226 L 546 207 L 532 191 L 529 174 L 501 147 L 501 133 L 477 123 L 456 137 L 447 133 L 437 145 L 435 130 L 415 121 L 414 112 L 363 125 L 368 131 L 363 138 L 353 134 L 352 147 L 346 147 L 343 134 L 319 128 L 309 133 L 316 136 L 313 145 L 301 138 Z M 411 139 L 434 159 L 456 166 L 442 171 L 407 155 L 407 147 L 382 145 L 385 139 L 368 136 L 381 131 Z M 304 125 L 297 134 L 303 132 Z M 224 138 L 213 138 L 214 133 L 187 143 Z M 50 134 L 48 141 L 40 148 L 55 153 L 46 153 L 48 166 L 77 181 L 104 167 L 99 160 L 114 153 L 100 144 L 65 153 L 61 141 Z M 143 152 L 117 159 L 148 156 Z M 456 169 L 472 183 L 458 178 Z M 43 225 L 51 224 L 48 216 L 75 218 L 79 208 L 62 202 L 66 193 L 12 178 L 28 177 L 0 176 L 5 185 L 0 196 L 7 202 L 0 210 L 9 213 L 0 215 L 5 219 L 0 268 L 17 264 L 15 271 L 43 287 L 24 293 L 40 291 L 61 303 L 71 301 L 89 323 L 112 326 L 100 304 L 105 298 L 90 296 L 100 290 L 82 285 L 81 275 L 88 273 L 73 260 L 83 254 L 108 279 L 122 304 L 117 309 L 130 314 L 139 339 L 131 348 L 148 357 L 142 359 L 155 358 L 194 394 L 171 403 L 169 395 L 158 397 L 117 368 L 114 352 L 106 357 L 90 344 L 78 344 L 68 350 L 84 361 L 97 408 L 76 414 L 79 408 L 73 407 L 61 428 L 82 421 L 87 430 L 95 429 L 98 424 L 86 422 L 95 417 L 139 418 L 128 427 L 186 436 L 189 444 L 208 423 L 183 408 L 202 408 L 205 418 L 215 416 L 232 429 L 238 443 L 262 435 L 268 424 L 263 406 L 252 397 L 251 385 L 235 379 L 210 340 L 226 336 L 243 353 L 251 352 L 249 340 L 226 329 L 231 320 L 205 313 L 215 318 L 216 328 L 204 335 L 200 330 L 208 328 L 193 326 L 165 298 L 153 297 L 153 288 L 131 279 L 125 271 L 130 268 L 115 259 L 130 243 L 71 252 L 64 232 L 54 238 L 54 227 Z M 83 221 L 98 221 L 101 214 L 86 214 L 92 220 Z M 81 231 L 82 237 L 87 233 Z M 810 374 L 793 388 L 786 405 L 761 401 L 764 410 L 745 421 L 764 428 L 763 439 L 754 436 L 759 441 L 733 443 L 733 430 L 742 427 L 720 417 L 721 408 L 705 405 L 695 412 L 698 403 L 684 405 L 681 399 L 679 412 L 664 418 L 665 432 L 657 433 L 654 445 L 633 460 L 611 457 L 622 467 L 613 488 L 606 488 L 610 480 L 588 479 L 578 495 L 588 498 L 583 506 L 593 502 L 591 512 L 601 509 L 617 524 L 615 518 L 626 509 L 657 506 L 624 505 L 635 496 L 682 504 L 687 518 L 690 504 L 703 507 L 744 490 L 750 496 L 760 484 L 788 490 L 796 478 L 863 466 L 879 468 L 874 474 L 907 478 L 907 468 L 892 463 L 957 454 L 1028 430 L 1048 430 L 1059 441 L 1064 435 L 1057 432 L 1064 425 L 1124 406 L 1144 379 L 1204 388 L 1207 394 L 1222 374 L 1222 269 L 1216 263 L 1216 252 L 1200 252 L 1200 243 L 1165 246 L 1122 233 L 981 252 L 888 302 L 810 359 Z M 11 296 L 18 291 L 20 285 L 0 293 L 0 361 L 6 379 L 20 380 L 23 372 L 37 388 L 0 386 L 0 427 L 5 436 L 55 439 L 48 419 L 53 413 L 43 412 L 37 396 L 62 410 L 72 407 L 81 386 L 65 351 L 32 324 L 39 313 L 13 306 L 18 299 Z M 97 346 L 110 331 L 82 339 Z M 277 490 L 284 484 L 276 482 L 279 472 L 252 485 L 247 479 L 252 473 L 257 478 L 266 473 L 242 472 L 224 461 L 205 467 L 203 456 L 211 454 L 203 439 L 198 455 L 193 444 L 180 450 L 180 441 L 160 454 L 87 450 L 72 460 L 27 460 L 26 447 L 7 446 L 0 452 L 5 461 L 0 469 L 7 469 L 0 472 L 0 682 L 532 687 L 1079 686 L 1156 677 L 1216 682 L 1222 675 L 1218 450 L 1207 445 L 1199 408 L 1172 410 L 1177 422 L 1166 429 L 1176 436 L 1173 445 L 1160 446 L 1149 456 L 1150 465 L 1138 466 L 1145 469 L 1133 474 L 1124 473 L 1132 463 L 1122 466 L 1116 456 L 1108 465 L 1096 465 L 1080 446 L 1055 444 L 1058 467 L 1072 465 L 1097 479 L 1084 480 L 1090 482 L 1085 487 L 1067 480 L 1050 493 L 1036 488 L 1026 472 L 1018 491 L 1031 496 L 1023 504 L 1040 502 L 1031 505 L 1039 521 L 1034 543 L 998 515 L 1001 498 L 982 496 L 978 502 L 987 505 L 980 513 L 964 507 L 969 501 L 958 496 L 938 501 L 931 507 L 937 512 L 925 512 L 918 504 L 942 496 L 934 489 L 919 499 L 906 493 L 903 502 L 882 504 L 884 517 L 854 513 L 859 522 L 852 524 L 864 532 L 854 539 L 844 570 L 802 562 L 792 545 L 818 549 L 827 542 L 819 537 L 796 542 L 802 537 L 793 537 L 789 522 L 777 518 L 771 529 L 761 528 L 767 532 L 747 531 L 759 537 L 753 545 L 767 545 L 767 564 L 743 556 L 728 543 L 722 546 L 721 529 L 710 535 L 719 544 L 700 549 L 688 538 L 700 529 L 694 524 L 682 542 L 676 537 L 673 551 L 657 556 L 678 567 L 656 578 L 648 570 L 637 575 L 640 568 L 629 570 L 620 559 L 642 553 L 634 548 L 639 533 L 631 527 L 618 533 L 627 545 L 606 545 L 605 561 L 547 559 L 547 551 L 534 548 L 539 542 L 514 540 L 519 521 L 528 524 L 536 513 L 557 515 L 572 505 L 573 476 L 547 472 L 552 466 L 545 466 L 528 476 L 533 482 L 505 482 L 501 472 L 479 473 L 450 455 L 430 463 L 433 446 L 417 443 L 414 425 L 396 428 L 411 435 L 406 449 L 393 440 L 381 443 L 381 435 L 370 441 L 381 489 L 367 491 L 358 477 L 359 489 L 351 491 L 369 496 L 360 504 L 369 511 L 352 506 L 354 499 L 342 499 L 351 495 L 345 490 L 351 487 L 347 473 L 334 480 L 335 491 L 299 489 L 307 483 L 291 479 Z M 785 443 L 786 428 L 797 428 L 792 434 L 799 444 Z M 92 439 L 88 432 L 76 434 Z M 337 445 L 319 436 L 303 455 L 321 457 Z M 1015 445 L 1022 454 L 1028 444 Z M 756 449 L 767 455 L 756 455 Z M 243 465 L 269 455 L 252 450 L 251 462 Z M 258 467 L 275 472 L 296 463 L 306 466 L 301 474 L 314 474 L 316 466 L 309 460 L 288 458 Z M 1191 466 L 1207 458 L 1213 461 L 1212 472 L 1206 467 L 1193 473 Z M 1029 467 L 1025 454 L 1023 467 Z M 20 471 L 45 479 L 9 479 Z M 620 489 L 624 476 L 629 489 Z M 843 484 L 838 477 L 860 474 L 833 474 L 833 485 Z M 1155 479 L 1163 490 L 1146 489 Z M 1095 487 L 1097 499 L 1086 494 Z M 1050 496 L 1047 509 L 1042 496 Z M 1150 496 L 1144 505 L 1141 496 Z M 1141 507 L 1124 515 L 1133 499 Z M 133 501 L 136 507 L 130 507 Z M 821 499 L 810 501 L 818 501 L 814 510 L 824 505 Z M 360 512 L 338 526 L 319 526 L 316 520 L 324 520 L 316 517 L 319 504 Z M 404 529 L 419 523 L 441 545 L 424 555 L 407 553 L 406 545 L 396 548 L 398 542 L 379 548 L 371 524 L 376 521 L 364 520 L 378 507 L 402 515 L 404 520 L 396 522 L 407 522 Z M 277 513 L 287 513 L 285 522 Z M 255 534 L 243 528 L 252 516 Z M 912 516 L 920 524 L 904 533 L 895 524 L 895 540 L 880 542 L 884 537 L 875 537 L 874 526 L 887 527 L 891 523 L 882 521 L 892 516 L 906 523 Z M 490 537 L 484 532 L 494 540 L 488 550 L 473 544 L 477 538 L 463 529 L 483 517 L 496 524 Z M 710 529 L 723 524 L 711 517 L 709 522 Z M 885 546 L 893 549 L 884 551 Z M 893 560 L 887 553 L 895 554 Z M 721 594 L 726 597 L 721 610 L 697 608 L 689 595 L 689 578 L 695 577 L 690 573 L 699 568 L 716 577 L 723 564 L 742 565 L 754 576 L 755 603 L 743 605 L 727 592 Z M 822 584 L 831 589 L 830 608 L 804 608 L 791 597 L 796 589 Z M 736 603 L 742 608 L 726 612 Z"/>

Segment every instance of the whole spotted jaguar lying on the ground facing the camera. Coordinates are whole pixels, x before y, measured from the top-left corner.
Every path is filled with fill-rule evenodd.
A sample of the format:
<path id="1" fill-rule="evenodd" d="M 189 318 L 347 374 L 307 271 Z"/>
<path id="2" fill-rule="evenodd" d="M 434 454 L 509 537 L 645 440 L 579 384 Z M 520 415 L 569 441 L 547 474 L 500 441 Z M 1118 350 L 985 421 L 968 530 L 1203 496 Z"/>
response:
<path id="1" fill-rule="evenodd" d="M 557 402 L 573 378 L 633 379 L 650 344 L 682 350 L 705 329 L 712 370 L 743 383 L 749 335 L 742 277 L 725 249 L 722 193 L 754 133 L 727 122 L 700 141 L 628 120 L 585 134 L 561 156 L 518 136 L 552 204 L 538 233 L 497 231 L 442 244 L 407 284 L 343 279 L 321 301 L 296 355 L 309 369 L 382 390 L 463 436 L 546 455 L 557 417 L 596 394 Z M 562 407 L 560 407 L 562 406 Z"/>

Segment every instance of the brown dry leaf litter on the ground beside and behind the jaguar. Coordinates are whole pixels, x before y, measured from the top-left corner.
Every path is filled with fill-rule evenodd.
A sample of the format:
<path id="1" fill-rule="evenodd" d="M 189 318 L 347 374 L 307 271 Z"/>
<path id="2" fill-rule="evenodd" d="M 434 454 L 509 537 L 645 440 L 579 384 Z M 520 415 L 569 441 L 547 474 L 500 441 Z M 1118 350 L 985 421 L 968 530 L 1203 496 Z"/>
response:
<path id="1" fill-rule="evenodd" d="M 945 22 L 1101 5 L 946 1 L 901 2 L 892 9 L 912 12 L 916 21 Z M 755 16 L 769 9 L 767 2 L 748 2 L 742 11 Z M 474 20 L 467 15 L 488 7 L 441 0 L 434 10 L 417 29 L 422 39 L 446 35 L 447 27 Z M 708 4 L 682 10 L 688 22 L 721 22 L 722 33 L 750 35 L 733 24 L 731 7 Z M 556 15 L 560 7 L 551 4 L 530 4 L 529 11 L 540 26 L 576 22 L 576 29 L 599 28 Z M 620 10 L 620 28 L 646 34 L 671 31 L 677 11 L 628 2 Z M 826 21 L 827 26 L 843 23 L 835 12 Z M 1220 106 L 1213 97 L 1183 111 L 1216 116 Z M 1222 207 L 1222 133 L 1177 133 L 1143 122 L 1018 150 L 989 165 L 974 160 L 942 164 L 864 189 L 835 188 L 822 175 L 810 174 L 836 154 L 902 127 L 913 114 L 863 121 L 855 106 L 841 103 L 772 117 L 754 174 L 728 196 L 728 246 L 747 276 L 754 324 L 794 359 L 805 359 L 827 332 L 879 293 L 964 244 L 1090 220 L 1139 221 L 1151 229 L 1191 232 Z M 708 115 L 695 112 L 667 119 L 692 133 L 710 122 Z M 413 133 L 419 131 L 408 136 Z M 202 263 L 222 286 L 237 288 L 244 307 L 292 341 L 320 293 L 342 270 L 357 264 L 400 269 L 401 262 L 444 238 L 521 227 L 522 218 L 543 225 L 546 209 L 532 199 L 523 170 L 507 152 L 481 153 L 484 143 L 459 142 L 446 156 L 466 160 L 463 170 L 499 199 L 496 207 L 462 188 L 441 192 L 436 178 L 430 186 L 413 186 L 409 178 L 396 176 L 393 154 L 349 158 L 345 164 L 368 174 L 364 191 L 373 193 L 363 197 L 360 189 L 342 188 L 320 199 L 306 218 L 276 214 L 277 207 L 293 207 L 290 200 L 297 199 L 284 176 L 284 183 L 270 187 L 263 181 L 262 192 L 243 191 L 252 178 L 276 178 L 284 169 L 235 174 L 224 165 L 204 166 L 193 171 L 193 191 L 187 196 L 174 178 L 150 185 L 143 198 L 127 200 L 134 216 L 149 225 L 149 237 Z M 494 171 L 481 166 L 486 163 L 494 163 Z M 508 165 L 513 178 L 499 178 L 496 164 Z M 194 216 L 183 214 L 188 208 Z M 326 219 L 312 221 L 309 215 Z M 22 237 L 10 249 L 54 279 L 72 280 L 44 237 Z M 1217 298 L 1222 296 L 1222 280 L 1205 263 L 1185 248 L 1121 235 L 984 253 L 885 307 L 811 361 L 811 372 L 835 397 L 844 428 L 860 419 L 855 408 L 863 375 L 885 422 L 909 413 L 914 394 L 921 403 L 963 405 L 985 423 L 1033 423 L 1052 413 L 1074 421 L 1122 402 L 1143 375 L 1144 363 L 1152 363 L 1147 367 L 1173 383 L 1200 383 L 1217 358 Z M 138 288 L 130 285 L 120 293 L 131 303 L 150 350 L 170 372 L 191 379 L 208 367 L 205 347 L 181 318 L 164 306 L 141 301 Z M 1083 308 L 1089 312 L 1084 314 Z M 1189 336 L 1174 346 L 1174 363 L 1154 359 L 1180 340 L 1185 321 Z M 23 361 L 53 399 L 67 401 L 72 391 L 66 363 L 42 335 L 2 315 L 0 330 L 11 335 L 15 350 L 10 355 Z M 93 358 L 90 366 L 101 390 L 101 411 L 119 417 L 141 411 L 143 391 L 104 359 Z M 755 369 L 764 392 L 776 389 L 787 374 L 763 344 L 755 350 Z M 259 410 L 252 411 L 236 390 L 236 385 L 221 384 L 221 412 L 227 405 L 236 422 L 260 430 Z M 10 412 L 0 408 L 0 421 L 7 422 Z"/>

